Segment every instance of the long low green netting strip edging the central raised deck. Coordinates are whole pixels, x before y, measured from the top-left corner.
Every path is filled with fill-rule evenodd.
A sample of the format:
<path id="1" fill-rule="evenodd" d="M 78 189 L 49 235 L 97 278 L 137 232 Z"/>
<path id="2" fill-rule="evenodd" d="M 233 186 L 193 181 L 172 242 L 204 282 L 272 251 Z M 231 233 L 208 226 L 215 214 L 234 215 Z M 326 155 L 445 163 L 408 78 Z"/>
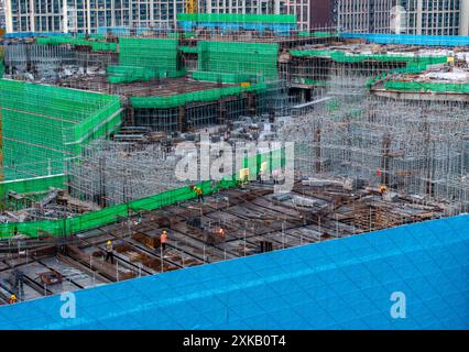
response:
<path id="1" fill-rule="evenodd" d="M 184 106 L 193 101 L 212 101 L 222 97 L 238 96 L 244 91 L 260 92 L 266 89 L 265 84 L 255 84 L 249 87 L 231 86 L 200 91 L 186 92 L 170 97 L 131 97 L 134 108 L 168 109 Z"/>

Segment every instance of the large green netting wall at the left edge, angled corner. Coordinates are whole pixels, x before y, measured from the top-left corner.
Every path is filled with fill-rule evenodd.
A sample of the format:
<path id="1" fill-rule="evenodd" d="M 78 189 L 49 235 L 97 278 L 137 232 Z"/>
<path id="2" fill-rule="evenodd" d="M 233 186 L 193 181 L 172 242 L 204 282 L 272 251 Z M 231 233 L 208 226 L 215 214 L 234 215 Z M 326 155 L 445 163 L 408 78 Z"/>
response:
<path id="1" fill-rule="evenodd" d="M 117 129 L 120 111 L 117 96 L 1 79 L 4 179 L 62 174 L 66 157 Z"/>

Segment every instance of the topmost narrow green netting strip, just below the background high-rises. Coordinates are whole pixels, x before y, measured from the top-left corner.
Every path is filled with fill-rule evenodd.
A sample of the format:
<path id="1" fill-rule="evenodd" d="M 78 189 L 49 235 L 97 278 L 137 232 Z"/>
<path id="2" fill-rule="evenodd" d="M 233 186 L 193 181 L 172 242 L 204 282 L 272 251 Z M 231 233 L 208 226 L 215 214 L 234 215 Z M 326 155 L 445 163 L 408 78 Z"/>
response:
<path id="1" fill-rule="evenodd" d="M 296 15 L 254 13 L 178 13 L 177 21 L 296 24 Z"/>

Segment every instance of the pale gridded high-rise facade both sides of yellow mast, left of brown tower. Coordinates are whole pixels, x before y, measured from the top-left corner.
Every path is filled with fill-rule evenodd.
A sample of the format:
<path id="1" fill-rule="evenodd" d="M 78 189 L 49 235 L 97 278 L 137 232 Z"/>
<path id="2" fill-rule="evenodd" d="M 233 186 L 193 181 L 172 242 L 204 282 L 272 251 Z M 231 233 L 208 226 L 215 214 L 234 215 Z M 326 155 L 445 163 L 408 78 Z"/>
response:
<path id="1" fill-rule="evenodd" d="M 174 28 L 186 0 L 4 0 L 7 32 L 95 33 L 100 26 Z M 312 28 L 318 0 L 197 0 L 199 12 L 295 14 Z"/>

